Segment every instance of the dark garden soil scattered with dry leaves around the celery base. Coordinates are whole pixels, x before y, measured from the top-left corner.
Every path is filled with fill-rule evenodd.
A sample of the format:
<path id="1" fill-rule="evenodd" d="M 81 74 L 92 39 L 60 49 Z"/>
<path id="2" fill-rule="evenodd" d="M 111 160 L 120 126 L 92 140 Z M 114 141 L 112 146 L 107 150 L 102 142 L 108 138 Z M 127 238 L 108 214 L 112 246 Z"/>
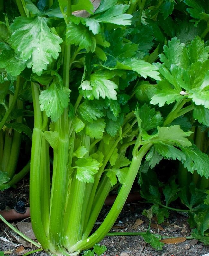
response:
<path id="1" fill-rule="evenodd" d="M 17 185 L 16 189 L 10 188 L 0 191 L 0 209 L 12 209 L 19 200 L 25 201 L 26 206 L 29 206 L 29 185 L 26 184 L 27 182 L 22 182 Z M 145 232 L 149 221 L 141 212 L 143 209 L 149 209 L 150 207 L 151 205 L 140 202 L 125 204 L 111 232 Z M 109 208 L 110 206 L 104 206 L 95 228 L 103 221 Z M 15 220 L 13 224 L 16 225 L 19 221 Z M 30 218 L 22 221 L 30 224 Z M 187 217 L 176 212 L 170 212 L 169 218 L 161 225 L 157 225 L 155 220 L 152 220 L 150 232 L 173 238 L 189 237 L 191 234 Z M 31 244 L 21 240 L 2 222 L 0 223 L 0 237 L 0 251 L 4 251 L 5 255 L 23 255 L 35 249 L 34 247 L 31 248 Z M 209 256 L 209 247 L 204 246 L 195 239 L 187 239 L 184 242 L 176 240 L 175 242 L 173 244 L 165 244 L 160 251 L 153 249 L 139 235 L 106 236 L 100 244 L 107 247 L 107 251 L 104 253 L 106 256 Z M 48 254 L 40 251 L 31 255 L 47 256 Z"/>

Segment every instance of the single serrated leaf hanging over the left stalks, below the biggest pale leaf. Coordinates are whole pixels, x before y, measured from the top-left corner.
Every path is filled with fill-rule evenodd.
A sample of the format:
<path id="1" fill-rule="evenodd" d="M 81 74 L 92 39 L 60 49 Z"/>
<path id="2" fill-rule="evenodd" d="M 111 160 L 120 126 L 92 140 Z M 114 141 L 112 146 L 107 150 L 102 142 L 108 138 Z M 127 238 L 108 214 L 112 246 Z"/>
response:
<path id="1" fill-rule="evenodd" d="M 70 89 L 59 85 L 55 80 L 48 89 L 41 92 L 39 96 L 40 109 L 46 111 L 52 122 L 56 122 L 64 109 L 68 107 L 70 92 Z"/>

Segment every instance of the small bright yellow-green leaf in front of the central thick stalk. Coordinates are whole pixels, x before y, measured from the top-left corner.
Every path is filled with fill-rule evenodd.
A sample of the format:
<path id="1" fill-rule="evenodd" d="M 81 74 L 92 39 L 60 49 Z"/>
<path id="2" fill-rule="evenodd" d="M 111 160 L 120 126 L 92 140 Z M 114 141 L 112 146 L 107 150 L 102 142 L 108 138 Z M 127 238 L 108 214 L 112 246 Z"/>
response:
<path id="1" fill-rule="evenodd" d="M 89 157 L 78 159 L 75 163 L 76 178 L 82 182 L 94 182 L 94 175 L 99 170 L 99 162 Z"/>

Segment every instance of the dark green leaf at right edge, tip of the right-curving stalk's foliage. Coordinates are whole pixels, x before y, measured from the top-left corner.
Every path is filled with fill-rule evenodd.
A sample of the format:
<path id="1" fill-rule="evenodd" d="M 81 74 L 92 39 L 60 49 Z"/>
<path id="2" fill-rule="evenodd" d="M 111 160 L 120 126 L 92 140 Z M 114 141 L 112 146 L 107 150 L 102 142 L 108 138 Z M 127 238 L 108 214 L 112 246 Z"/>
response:
<path id="1" fill-rule="evenodd" d="M 191 147 L 181 147 L 181 150 L 186 155 L 184 167 L 187 168 L 188 171 L 191 173 L 196 170 L 200 176 L 205 176 L 206 178 L 209 178 L 208 155 L 201 152 L 195 145 L 192 145 Z"/>

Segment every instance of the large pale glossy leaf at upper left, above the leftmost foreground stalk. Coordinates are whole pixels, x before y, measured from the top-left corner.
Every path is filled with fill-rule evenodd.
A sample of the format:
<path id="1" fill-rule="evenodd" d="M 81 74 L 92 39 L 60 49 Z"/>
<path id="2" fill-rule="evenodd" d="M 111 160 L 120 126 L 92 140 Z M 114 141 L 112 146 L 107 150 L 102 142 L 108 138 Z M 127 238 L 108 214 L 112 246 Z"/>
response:
<path id="1" fill-rule="evenodd" d="M 19 58 L 37 75 L 41 75 L 61 51 L 62 39 L 54 34 L 44 17 L 17 17 L 11 25 L 12 47 Z"/>

